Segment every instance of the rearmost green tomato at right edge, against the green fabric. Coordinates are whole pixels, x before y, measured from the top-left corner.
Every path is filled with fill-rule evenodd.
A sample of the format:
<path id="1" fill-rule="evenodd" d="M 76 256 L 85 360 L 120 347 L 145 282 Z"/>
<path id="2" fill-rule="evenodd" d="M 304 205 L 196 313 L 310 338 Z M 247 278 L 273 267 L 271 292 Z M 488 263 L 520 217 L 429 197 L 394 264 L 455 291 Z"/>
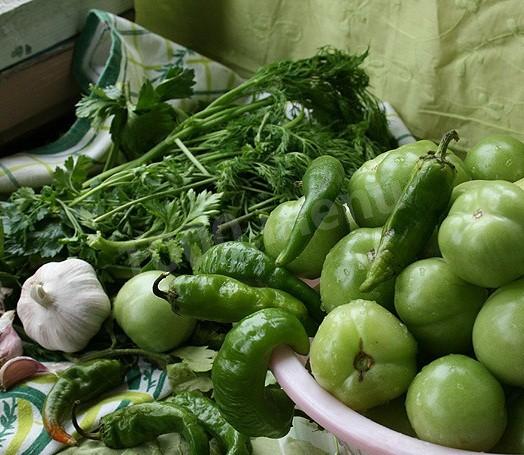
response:
<path id="1" fill-rule="evenodd" d="M 475 180 L 507 180 L 524 177 L 524 143 L 511 136 L 487 136 L 468 151 L 464 160 Z"/>

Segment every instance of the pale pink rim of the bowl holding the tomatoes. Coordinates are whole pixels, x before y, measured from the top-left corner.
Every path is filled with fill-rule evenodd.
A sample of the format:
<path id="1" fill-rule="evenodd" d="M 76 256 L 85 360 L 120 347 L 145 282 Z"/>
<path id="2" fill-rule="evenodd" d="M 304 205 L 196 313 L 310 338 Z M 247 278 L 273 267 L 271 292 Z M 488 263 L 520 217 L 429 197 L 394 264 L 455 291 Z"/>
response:
<path id="1" fill-rule="evenodd" d="M 271 357 L 271 370 L 293 402 L 320 426 L 351 447 L 373 455 L 478 455 L 482 452 L 452 449 L 406 436 L 353 411 L 324 390 L 304 367 L 306 358 L 290 347 L 279 346 Z M 372 437 L 370 437 L 372 436 Z M 502 455 L 492 454 L 490 455 Z"/>

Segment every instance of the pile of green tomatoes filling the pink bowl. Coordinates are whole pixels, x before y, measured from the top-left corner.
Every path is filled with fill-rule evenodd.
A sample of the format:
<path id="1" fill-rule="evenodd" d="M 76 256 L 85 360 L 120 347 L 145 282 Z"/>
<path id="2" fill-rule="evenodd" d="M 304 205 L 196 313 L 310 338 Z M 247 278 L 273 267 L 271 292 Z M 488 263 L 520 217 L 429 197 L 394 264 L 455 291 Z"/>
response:
<path id="1" fill-rule="evenodd" d="M 428 150 L 436 144 L 419 141 L 366 162 L 349 179 L 347 200 L 335 202 L 287 265 L 320 276 L 327 315 L 311 344 L 311 371 L 349 407 L 397 431 L 524 453 L 524 144 L 498 135 L 464 159 L 449 151 L 452 192 L 431 236 L 402 270 L 362 288 L 381 241 L 396 235 L 398 220 L 384 225 Z M 443 189 L 414 191 L 419 212 L 403 212 L 407 232 Z M 270 215 L 267 254 L 284 249 L 301 204 Z"/>

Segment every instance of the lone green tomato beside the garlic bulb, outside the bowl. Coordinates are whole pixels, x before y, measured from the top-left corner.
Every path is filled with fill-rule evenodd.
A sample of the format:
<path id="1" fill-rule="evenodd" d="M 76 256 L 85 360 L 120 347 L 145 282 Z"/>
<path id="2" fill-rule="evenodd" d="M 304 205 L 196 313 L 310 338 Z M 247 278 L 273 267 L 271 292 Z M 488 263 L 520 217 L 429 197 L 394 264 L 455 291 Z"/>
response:
<path id="1" fill-rule="evenodd" d="M 127 281 L 113 302 L 113 316 L 133 343 L 142 349 L 164 352 L 185 341 L 195 328 L 196 320 L 179 316 L 171 305 L 153 294 L 153 282 L 163 273 L 150 270 Z M 162 281 L 168 287 L 170 275 Z"/>

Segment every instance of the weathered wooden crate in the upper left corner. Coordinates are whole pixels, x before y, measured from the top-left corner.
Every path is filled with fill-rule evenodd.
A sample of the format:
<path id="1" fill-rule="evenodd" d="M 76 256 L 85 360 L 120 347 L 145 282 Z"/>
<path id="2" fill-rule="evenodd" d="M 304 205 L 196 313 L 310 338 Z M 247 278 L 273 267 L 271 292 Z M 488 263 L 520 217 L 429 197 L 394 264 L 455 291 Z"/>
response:
<path id="1" fill-rule="evenodd" d="M 92 8 L 132 16 L 132 0 L 0 0 L 0 153 L 72 109 L 74 37 Z"/>

